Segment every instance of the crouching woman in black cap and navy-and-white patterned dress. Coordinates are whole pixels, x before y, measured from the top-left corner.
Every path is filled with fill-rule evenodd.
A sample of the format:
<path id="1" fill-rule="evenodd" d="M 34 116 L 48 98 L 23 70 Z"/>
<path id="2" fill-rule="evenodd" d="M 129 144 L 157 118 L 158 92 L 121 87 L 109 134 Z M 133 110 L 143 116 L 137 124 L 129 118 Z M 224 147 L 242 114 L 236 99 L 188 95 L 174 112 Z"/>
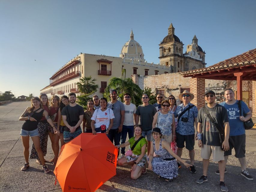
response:
<path id="1" fill-rule="evenodd" d="M 170 182 L 174 177 L 178 176 L 178 164 L 176 159 L 183 163 L 186 167 L 191 165 L 176 155 L 167 141 L 161 139 L 162 134 L 159 128 L 154 128 L 152 130 L 152 135 L 154 141 L 151 142 L 149 169 L 158 174 L 159 178 L 164 178 L 165 181 Z M 160 157 L 153 158 L 154 152 Z"/>

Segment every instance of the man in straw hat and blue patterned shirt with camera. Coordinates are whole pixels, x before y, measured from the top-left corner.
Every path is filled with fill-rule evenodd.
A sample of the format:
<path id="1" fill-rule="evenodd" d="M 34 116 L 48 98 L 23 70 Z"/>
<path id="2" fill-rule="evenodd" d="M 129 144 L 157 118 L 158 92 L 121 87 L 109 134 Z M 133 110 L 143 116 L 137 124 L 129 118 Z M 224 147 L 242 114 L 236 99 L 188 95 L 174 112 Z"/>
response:
<path id="1" fill-rule="evenodd" d="M 194 145 L 195 145 L 195 128 L 194 123 L 197 127 L 197 114 L 198 110 L 196 106 L 193 106 L 189 108 L 192 104 L 190 101 L 194 99 L 194 95 L 187 90 L 183 91 L 183 93 L 179 94 L 179 100 L 183 101 L 182 104 L 180 104 L 175 113 L 174 116 L 178 118 L 178 125 L 176 128 L 176 143 L 177 143 L 177 155 L 181 157 L 182 155 L 182 149 L 185 147 L 184 143 L 186 143 L 186 149 L 189 151 L 189 158 L 190 158 L 190 164 L 193 165 L 190 167 L 191 173 L 196 173 L 196 169 L 194 166 L 194 158 L 195 158 L 195 151 L 194 151 Z M 185 113 L 182 114 L 184 110 L 187 110 Z M 181 115 L 182 114 L 182 115 Z M 180 163 L 178 162 L 178 168 L 181 168 Z"/>

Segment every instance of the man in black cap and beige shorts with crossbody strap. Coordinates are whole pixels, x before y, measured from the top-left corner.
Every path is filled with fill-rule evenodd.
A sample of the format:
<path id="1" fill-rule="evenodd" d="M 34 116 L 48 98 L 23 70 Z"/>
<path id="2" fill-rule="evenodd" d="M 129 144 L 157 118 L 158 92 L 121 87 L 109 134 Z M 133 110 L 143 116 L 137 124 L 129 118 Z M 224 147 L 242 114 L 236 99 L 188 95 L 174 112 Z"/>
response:
<path id="1" fill-rule="evenodd" d="M 201 148 L 201 157 L 203 158 L 203 176 L 196 182 L 203 183 L 208 181 L 207 170 L 209 167 L 209 158 L 212 154 L 213 161 L 217 161 L 219 165 L 220 175 L 220 187 L 221 191 L 228 191 L 228 188 L 224 183 L 224 151 L 229 149 L 228 137 L 229 137 L 229 124 L 226 109 L 215 103 L 215 93 L 213 91 L 206 91 L 204 96 L 207 105 L 202 107 L 197 116 L 197 138 L 198 146 Z M 215 125 L 217 124 L 217 125 Z M 220 134 L 225 136 L 223 143 L 220 141 Z M 222 145 L 222 146 L 221 146 Z M 223 147 L 223 150 L 221 150 Z"/>

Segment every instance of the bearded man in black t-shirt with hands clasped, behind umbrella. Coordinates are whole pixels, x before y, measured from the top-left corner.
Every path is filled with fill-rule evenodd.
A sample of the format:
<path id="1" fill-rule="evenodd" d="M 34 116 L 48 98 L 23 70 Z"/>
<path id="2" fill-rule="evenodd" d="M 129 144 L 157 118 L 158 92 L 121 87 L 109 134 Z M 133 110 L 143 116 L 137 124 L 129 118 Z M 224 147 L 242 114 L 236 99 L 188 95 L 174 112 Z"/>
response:
<path id="1" fill-rule="evenodd" d="M 83 107 L 76 104 L 76 94 L 70 93 L 69 105 L 62 109 L 61 115 L 64 124 L 64 142 L 67 143 L 82 133 L 81 123 L 83 122 L 84 110 Z"/>

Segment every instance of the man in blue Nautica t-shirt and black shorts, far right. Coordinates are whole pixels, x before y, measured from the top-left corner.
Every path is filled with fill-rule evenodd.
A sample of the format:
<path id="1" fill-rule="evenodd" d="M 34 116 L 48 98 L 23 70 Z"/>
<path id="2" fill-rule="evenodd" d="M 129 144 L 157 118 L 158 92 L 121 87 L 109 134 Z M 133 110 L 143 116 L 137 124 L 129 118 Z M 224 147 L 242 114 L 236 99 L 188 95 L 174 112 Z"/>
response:
<path id="1" fill-rule="evenodd" d="M 230 149 L 224 152 L 224 158 L 227 163 L 228 155 L 232 155 L 231 151 L 235 149 L 235 157 L 238 158 L 241 165 L 241 175 L 248 180 L 253 180 L 252 176 L 246 171 L 245 161 L 245 128 L 244 122 L 249 120 L 252 116 L 251 111 L 245 104 L 241 102 L 242 116 L 240 116 L 240 110 L 238 107 L 238 101 L 234 98 L 234 91 L 230 88 L 224 90 L 224 97 L 226 101 L 221 105 L 227 109 L 227 115 L 229 118 L 230 134 L 229 137 L 233 140 L 234 146 L 230 145 Z M 245 114 L 245 115 L 244 115 Z M 225 173 L 227 172 L 225 168 Z M 218 175 L 219 170 L 215 171 Z"/>

